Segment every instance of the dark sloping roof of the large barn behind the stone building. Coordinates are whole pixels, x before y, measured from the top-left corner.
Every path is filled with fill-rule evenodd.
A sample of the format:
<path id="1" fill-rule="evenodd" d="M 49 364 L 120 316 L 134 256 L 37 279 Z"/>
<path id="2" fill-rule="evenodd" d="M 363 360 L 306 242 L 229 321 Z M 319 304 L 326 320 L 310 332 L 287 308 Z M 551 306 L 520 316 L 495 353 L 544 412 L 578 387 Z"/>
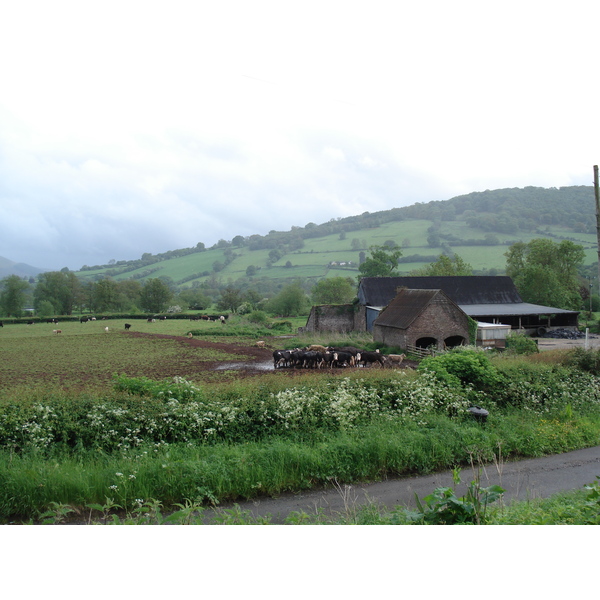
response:
<path id="1" fill-rule="evenodd" d="M 438 289 L 459 306 L 517 304 L 523 300 L 510 277 L 493 275 L 446 277 L 363 277 L 358 298 L 366 306 L 387 306 L 398 289 Z"/>

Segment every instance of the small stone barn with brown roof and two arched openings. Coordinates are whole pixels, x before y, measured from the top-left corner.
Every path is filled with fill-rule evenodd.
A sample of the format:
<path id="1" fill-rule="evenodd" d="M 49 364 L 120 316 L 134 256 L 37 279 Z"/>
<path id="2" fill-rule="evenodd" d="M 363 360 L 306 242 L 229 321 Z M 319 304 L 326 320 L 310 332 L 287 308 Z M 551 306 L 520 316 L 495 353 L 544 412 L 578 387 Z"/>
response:
<path id="1" fill-rule="evenodd" d="M 447 348 L 469 343 L 469 317 L 442 290 L 401 289 L 373 322 L 386 346 Z"/>

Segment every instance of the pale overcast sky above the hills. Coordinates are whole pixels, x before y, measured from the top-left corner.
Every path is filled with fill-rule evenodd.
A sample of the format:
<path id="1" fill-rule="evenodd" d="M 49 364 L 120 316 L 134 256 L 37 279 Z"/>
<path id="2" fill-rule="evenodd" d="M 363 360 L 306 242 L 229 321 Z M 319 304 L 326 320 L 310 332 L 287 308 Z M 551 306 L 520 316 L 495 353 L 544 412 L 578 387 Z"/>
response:
<path id="1" fill-rule="evenodd" d="M 0 256 L 592 185 L 597 1 L 3 2 Z"/>

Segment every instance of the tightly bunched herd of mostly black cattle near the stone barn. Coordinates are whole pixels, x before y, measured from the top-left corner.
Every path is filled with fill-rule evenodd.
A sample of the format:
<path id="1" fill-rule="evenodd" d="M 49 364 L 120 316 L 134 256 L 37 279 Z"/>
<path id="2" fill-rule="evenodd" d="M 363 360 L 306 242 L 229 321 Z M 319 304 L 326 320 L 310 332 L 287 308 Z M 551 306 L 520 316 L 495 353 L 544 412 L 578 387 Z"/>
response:
<path id="1" fill-rule="evenodd" d="M 303 368 L 322 369 L 340 367 L 399 367 L 404 360 L 404 354 L 380 354 L 360 350 L 352 346 L 332 348 L 319 345 L 294 350 L 275 350 L 273 352 L 273 368 Z"/>

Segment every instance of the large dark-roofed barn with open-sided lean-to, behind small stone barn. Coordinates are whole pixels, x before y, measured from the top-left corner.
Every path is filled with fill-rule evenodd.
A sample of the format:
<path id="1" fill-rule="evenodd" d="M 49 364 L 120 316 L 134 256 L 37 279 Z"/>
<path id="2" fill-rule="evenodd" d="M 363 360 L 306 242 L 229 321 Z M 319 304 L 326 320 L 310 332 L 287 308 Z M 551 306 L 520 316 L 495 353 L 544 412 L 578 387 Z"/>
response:
<path id="1" fill-rule="evenodd" d="M 512 329 L 542 335 L 550 329 L 576 329 L 578 311 L 523 302 L 510 277 L 365 277 L 358 288 L 366 329 L 372 330 L 377 314 L 398 290 L 440 289 L 475 321 L 502 323 Z"/>

